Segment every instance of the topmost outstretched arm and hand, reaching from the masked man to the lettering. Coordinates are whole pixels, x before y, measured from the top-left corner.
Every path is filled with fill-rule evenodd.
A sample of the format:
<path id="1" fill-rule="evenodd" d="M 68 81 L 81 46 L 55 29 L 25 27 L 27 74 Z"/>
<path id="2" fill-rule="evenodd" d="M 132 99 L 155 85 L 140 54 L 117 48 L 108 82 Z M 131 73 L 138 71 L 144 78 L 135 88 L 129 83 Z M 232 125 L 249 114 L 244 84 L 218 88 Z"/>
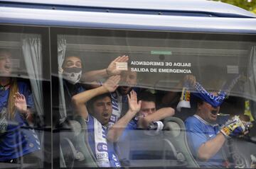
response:
<path id="1" fill-rule="evenodd" d="M 95 71 L 88 71 L 82 74 L 81 81 L 88 82 L 88 81 L 97 81 L 100 78 L 107 78 L 109 76 L 119 75 L 121 74 L 120 70 L 117 70 L 116 62 L 127 62 L 129 59 L 128 56 L 117 57 L 114 59 L 107 69 L 100 69 Z"/>

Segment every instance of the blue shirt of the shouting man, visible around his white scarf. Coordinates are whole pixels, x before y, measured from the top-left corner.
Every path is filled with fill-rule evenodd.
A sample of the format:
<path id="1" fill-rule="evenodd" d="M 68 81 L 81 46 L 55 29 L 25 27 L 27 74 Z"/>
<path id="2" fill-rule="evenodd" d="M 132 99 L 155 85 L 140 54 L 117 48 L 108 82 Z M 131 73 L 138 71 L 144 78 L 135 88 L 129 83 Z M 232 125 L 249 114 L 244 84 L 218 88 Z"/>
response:
<path id="1" fill-rule="evenodd" d="M 104 151 L 104 146 L 107 146 L 107 153 L 108 153 L 108 158 L 110 161 L 110 167 L 112 168 L 117 168 L 121 167 L 119 163 L 119 158 L 117 156 L 117 145 L 115 143 L 111 143 L 110 141 L 107 141 L 106 136 L 107 136 L 107 127 L 102 126 L 102 136 L 104 139 L 107 141 L 107 145 L 104 143 L 98 143 L 96 144 L 95 141 L 95 129 L 94 129 L 94 118 L 92 115 L 88 115 L 88 120 L 87 120 L 87 132 L 88 132 L 88 140 L 90 144 L 90 148 L 92 149 L 92 153 L 96 158 L 96 151 L 95 151 L 95 146 L 97 146 L 99 151 Z M 97 159 L 97 158 L 96 158 Z"/>

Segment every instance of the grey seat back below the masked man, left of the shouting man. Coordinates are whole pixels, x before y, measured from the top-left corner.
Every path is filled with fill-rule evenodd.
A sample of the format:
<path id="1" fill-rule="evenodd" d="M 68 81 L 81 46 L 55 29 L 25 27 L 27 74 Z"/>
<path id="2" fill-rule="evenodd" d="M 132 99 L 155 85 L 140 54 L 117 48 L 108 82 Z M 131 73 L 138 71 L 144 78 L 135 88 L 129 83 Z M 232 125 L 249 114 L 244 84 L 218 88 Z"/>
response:
<path id="1" fill-rule="evenodd" d="M 82 117 L 69 120 L 64 132 L 60 132 L 60 165 L 67 168 L 97 167 L 88 143 L 87 125 Z"/>

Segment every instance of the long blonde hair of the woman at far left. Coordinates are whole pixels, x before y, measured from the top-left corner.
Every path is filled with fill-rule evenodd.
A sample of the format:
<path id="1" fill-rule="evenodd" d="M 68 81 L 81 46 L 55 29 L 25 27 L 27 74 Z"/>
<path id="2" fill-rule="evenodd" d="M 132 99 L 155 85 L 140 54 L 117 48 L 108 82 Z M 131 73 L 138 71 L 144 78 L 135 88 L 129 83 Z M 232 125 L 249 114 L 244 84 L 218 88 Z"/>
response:
<path id="1" fill-rule="evenodd" d="M 10 79 L 10 87 L 9 87 L 9 98 L 8 98 L 8 106 L 7 106 L 7 117 L 9 120 L 14 119 L 15 116 L 15 105 L 14 105 L 14 94 L 18 92 L 18 84 L 16 78 Z"/>

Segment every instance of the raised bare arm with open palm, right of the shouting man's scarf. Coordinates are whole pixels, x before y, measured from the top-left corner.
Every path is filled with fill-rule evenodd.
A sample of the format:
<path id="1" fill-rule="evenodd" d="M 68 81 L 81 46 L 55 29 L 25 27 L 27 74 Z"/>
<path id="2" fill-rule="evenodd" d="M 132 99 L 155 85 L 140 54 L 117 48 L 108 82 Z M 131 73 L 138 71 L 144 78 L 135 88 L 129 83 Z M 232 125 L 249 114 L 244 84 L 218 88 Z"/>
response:
<path id="1" fill-rule="evenodd" d="M 137 93 L 135 91 L 130 92 L 130 96 L 127 95 L 128 102 L 129 102 L 129 110 L 127 113 L 117 121 L 116 124 L 114 124 L 109 132 L 107 133 L 107 139 L 111 142 L 117 142 L 119 139 L 119 136 L 122 135 L 122 132 L 124 131 L 124 128 L 127 127 L 127 124 L 129 121 L 132 120 L 132 118 L 139 112 L 140 107 L 142 105 L 142 101 L 139 101 L 137 103 Z"/>

